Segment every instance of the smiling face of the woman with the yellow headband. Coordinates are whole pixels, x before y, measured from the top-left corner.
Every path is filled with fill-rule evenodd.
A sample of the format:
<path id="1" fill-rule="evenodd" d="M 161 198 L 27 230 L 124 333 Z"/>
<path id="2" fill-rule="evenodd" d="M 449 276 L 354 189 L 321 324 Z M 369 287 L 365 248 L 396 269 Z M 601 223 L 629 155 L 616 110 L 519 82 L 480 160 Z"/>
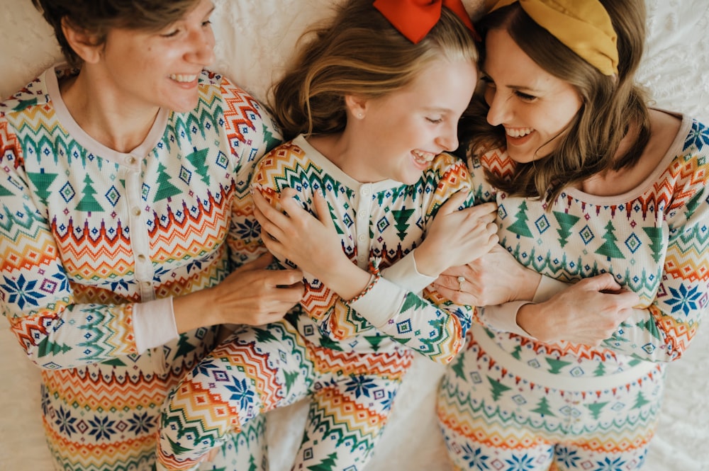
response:
<path id="1" fill-rule="evenodd" d="M 487 33 L 482 74 L 487 120 L 505 128 L 510 158 L 523 163 L 549 155 L 581 109 L 576 89 L 537 65 L 506 30 Z"/>

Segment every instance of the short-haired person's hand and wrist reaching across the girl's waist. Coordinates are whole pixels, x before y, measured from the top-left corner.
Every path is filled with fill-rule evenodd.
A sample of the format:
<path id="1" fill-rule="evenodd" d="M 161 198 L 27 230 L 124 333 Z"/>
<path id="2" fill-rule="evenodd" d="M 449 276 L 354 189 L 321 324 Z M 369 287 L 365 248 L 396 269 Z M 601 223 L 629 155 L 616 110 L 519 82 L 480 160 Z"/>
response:
<path id="1" fill-rule="evenodd" d="M 218 285 L 173 300 L 178 332 L 215 324 L 262 325 L 281 319 L 303 296 L 300 270 L 267 270 L 271 254 L 237 268 Z"/>

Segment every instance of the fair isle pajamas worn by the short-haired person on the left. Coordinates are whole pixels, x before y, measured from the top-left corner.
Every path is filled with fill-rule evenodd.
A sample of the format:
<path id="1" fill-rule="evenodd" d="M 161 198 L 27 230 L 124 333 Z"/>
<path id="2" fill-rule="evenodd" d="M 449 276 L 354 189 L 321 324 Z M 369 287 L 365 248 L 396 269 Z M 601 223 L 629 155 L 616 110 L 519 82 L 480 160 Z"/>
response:
<path id="1" fill-rule="evenodd" d="M 199 80 L 199 105 L 161 110 L 128 154 L 79 128 L 55 69 L 0 103 L 0 306 L 42 368 L 57 470 L 154 469 L 160 405 L 215 337 L 177 336 L 171 298 L 251 256 L 233 215 L 280 135 L 230 81 Z"/>

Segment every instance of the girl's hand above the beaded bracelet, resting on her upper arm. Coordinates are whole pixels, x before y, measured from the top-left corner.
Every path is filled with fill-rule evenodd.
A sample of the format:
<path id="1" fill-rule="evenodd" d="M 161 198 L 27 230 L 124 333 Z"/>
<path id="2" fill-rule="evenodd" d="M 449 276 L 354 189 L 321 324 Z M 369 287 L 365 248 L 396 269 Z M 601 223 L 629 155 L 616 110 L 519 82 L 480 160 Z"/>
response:
<path id="1" fill-rule="evenodd" d="M 269 251 L 281 260 L 288 259 L 304 273 L 318 278 L 340 295 L 351 299 L 367 287 L 369 273 L 358 268 L 344 251 L 323 195 L 313 193 L 313 216 L 292 197 L 295 191 L 284 188 L 280 194 L 283 214 L 254 191 L 256 216 L 261 238 Z"/>

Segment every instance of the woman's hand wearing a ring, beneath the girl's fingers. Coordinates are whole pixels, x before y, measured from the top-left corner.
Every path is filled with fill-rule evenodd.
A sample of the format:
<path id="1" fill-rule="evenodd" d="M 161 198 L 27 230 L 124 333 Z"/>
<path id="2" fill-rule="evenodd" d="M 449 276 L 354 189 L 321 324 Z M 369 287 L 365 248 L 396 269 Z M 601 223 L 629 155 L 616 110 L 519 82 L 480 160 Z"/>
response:
<path id="1" fill-rule="evenodd" d="M 464 278 L 462 283 L 459 276 Z M 432 283 L 432 288 L 457 304 L 493 306 L 531 301 L 541 279 L 539 273 L 525 268 L 503 246 L 495 244 L 467 265 L 448 268 Z"/>

